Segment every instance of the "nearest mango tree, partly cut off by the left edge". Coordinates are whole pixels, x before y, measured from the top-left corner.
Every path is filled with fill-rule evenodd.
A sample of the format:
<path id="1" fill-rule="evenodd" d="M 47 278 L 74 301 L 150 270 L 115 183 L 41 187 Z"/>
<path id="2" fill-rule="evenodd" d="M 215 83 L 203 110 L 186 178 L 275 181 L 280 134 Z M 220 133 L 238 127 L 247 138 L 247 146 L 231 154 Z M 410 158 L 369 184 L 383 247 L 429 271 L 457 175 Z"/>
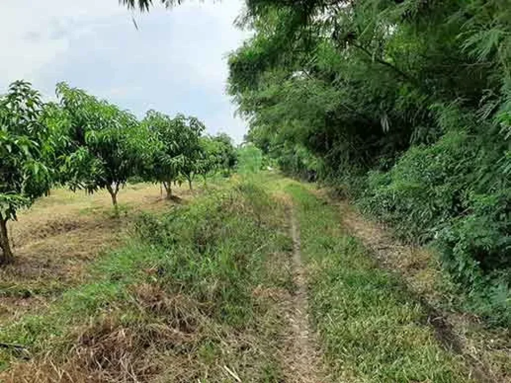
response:
<path id="1" fill-rule="evenodd" d="M 48 129 L 41 124 L 40 94 L 27 82 L 10 85 L 0 98 L 0 264 L 13 260 L 7 222 L 48 192 L 52 170 Z"/>

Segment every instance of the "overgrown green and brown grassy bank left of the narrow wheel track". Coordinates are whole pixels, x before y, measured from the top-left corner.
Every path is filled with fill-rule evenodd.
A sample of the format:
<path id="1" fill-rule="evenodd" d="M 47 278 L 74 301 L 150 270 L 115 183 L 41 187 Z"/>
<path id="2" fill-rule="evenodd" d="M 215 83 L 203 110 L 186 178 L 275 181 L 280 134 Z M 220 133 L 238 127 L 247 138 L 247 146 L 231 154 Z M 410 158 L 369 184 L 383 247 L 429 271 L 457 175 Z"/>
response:
<path id="1" fill-rule="evenodd" d="M 0 330 L 5 381 L 278 381 L 293 289 L 284 205 L 241 183 L 164 214 L 86 283 Z M 30 360 L 22 360 L 30 356 Z"/>

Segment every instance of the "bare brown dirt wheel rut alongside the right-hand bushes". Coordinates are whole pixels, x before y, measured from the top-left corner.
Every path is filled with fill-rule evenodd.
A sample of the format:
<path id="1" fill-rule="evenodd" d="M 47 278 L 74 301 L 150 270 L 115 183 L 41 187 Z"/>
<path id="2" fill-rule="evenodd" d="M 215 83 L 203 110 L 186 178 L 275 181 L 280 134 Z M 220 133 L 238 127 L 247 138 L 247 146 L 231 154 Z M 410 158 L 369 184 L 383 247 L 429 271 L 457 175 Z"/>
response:
<path id="1" fill-rule="evenodd" d="M 318 193 L 329 199 L 324 192 Z M 437 286 L 442 273 L 436 257 L 421 247 L 402 244 L 381 225 L 362 217 L 346 201 L 332 201 L 344 227 L 373 250 L 382 267 L 398 272 L 429 312 L 428 322 L 446 348 L 461 355 L 482 382 L 511 382 L 511 341 L 507 329 L 487 329 L 478 318 L 447 312 Z"/>

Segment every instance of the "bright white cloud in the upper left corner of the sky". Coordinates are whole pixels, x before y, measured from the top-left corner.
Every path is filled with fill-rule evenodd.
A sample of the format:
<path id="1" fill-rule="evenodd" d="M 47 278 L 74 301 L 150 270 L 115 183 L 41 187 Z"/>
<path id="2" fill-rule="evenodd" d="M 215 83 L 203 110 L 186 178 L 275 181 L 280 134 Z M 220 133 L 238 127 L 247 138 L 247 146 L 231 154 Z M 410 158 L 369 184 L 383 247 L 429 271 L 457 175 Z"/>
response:
<path id="1" fill-rule="evenodd" d="M 129 16 L 115 1 L 3 0 L 0 86 L 19 78 L 33 78 L 41 66 L 68 49 L 69 40 L 86 33 L 92 23 L 123 13 Z"/>

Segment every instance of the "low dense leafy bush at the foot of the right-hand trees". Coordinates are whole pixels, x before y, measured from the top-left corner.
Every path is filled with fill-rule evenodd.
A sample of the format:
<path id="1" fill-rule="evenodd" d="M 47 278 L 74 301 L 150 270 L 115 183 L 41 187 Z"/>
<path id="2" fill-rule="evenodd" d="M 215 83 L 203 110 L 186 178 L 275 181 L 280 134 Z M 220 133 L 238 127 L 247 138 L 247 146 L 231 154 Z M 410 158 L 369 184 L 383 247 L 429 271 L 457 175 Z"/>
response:
<path id="1" fill-rule="evenodd" d="M 467 292 L 466 304 L 511 323 L 511 188 L 498 172 L 482 177 L 495 155 L 486 139 L 450 131 L 434 145 L 412 147 L 389 172 L 369 172 L 359 205 L 405 241 L 431 242 Z"/>

